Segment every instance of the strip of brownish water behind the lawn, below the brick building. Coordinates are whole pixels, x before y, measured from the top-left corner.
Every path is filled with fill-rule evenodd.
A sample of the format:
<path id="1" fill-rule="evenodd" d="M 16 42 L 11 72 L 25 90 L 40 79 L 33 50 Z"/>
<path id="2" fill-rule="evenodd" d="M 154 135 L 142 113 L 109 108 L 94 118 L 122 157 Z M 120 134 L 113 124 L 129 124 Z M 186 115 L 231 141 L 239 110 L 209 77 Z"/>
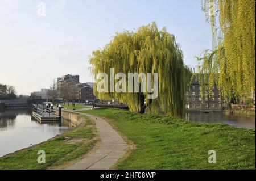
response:
<path id="1" fill-rule="evenodd" d="M 186 119 L 196 123 L 223 123 L 237 128 L 255 129 L 255 116 L 229 116 L 224 113 L 188 113 Z"/>

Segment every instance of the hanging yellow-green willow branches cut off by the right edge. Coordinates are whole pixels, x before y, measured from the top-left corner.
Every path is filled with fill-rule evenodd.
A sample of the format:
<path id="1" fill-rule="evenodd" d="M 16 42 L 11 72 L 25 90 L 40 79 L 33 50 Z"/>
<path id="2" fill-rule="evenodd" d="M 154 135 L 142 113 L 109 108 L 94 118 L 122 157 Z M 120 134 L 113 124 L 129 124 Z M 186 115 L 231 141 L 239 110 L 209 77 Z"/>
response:
<path id="1" fill-rule="evenodd" d="M 255 94 L 255 0 L 202 0 L 212 27 L 212 50 L 199 60 L 201 82 L 208 77 L 208 92 L 217 83 L 230 100 L 232 94 L 250 99 Z"/>

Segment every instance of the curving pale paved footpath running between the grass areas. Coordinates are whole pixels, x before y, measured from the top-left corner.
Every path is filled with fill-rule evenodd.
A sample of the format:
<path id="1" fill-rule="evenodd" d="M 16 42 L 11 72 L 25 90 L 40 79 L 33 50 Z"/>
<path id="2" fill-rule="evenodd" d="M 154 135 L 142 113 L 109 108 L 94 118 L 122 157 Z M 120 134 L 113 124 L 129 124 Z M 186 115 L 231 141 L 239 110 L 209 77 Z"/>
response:
<path id="1" fill-rule="evenodd" d="M 89 108 L 90 109 L 90 108 Z M 69 111 L 72 112 L 72 111 Z M 66 170 L 108 170 L 122 158 L 130 148 L 121 136 L 104 119 L 89 115 L 87 113 L 76 112 L 95 120 L 96 128 L 100 136 L 101 145 L 98 150 L 86 155 L 77 163 L 69 166 Z"/>

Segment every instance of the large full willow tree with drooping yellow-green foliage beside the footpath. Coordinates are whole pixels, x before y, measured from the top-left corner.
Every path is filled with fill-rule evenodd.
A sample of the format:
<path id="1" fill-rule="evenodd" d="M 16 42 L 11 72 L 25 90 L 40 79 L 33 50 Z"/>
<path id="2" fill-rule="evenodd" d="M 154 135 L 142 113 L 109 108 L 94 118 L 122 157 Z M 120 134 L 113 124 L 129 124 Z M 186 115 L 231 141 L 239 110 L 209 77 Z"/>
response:
<path id="1" fill-rule="evenodd" d="M 141 91 L 138 93 L 94 91 L 98 98 L 118 98 L 128 104 L 132 112 L 144 113 L 144 109 L 148 107 L 154 113 L 161 108 L 169 115 L 184 116 L 185 90 L 190 79 L 190 71 L 184 65 L 183 52 L 175 42 L 175 36 L 168 33 L 166 28 L 159 31 L 154 22 L 138 28 L 135 32 L 117 32 L 109 44 L 92 53 L 89 61 L 95 78 L 97 73 L 101 72 L 109 75 L 110 68 L 114 68 L 115 73 L 125 73 L 126 77 L 128 73 L 159 73 L 157 99 L 147 99 L 147 93 Z M 141 86 L 141 79 L 139 83 Z"/>

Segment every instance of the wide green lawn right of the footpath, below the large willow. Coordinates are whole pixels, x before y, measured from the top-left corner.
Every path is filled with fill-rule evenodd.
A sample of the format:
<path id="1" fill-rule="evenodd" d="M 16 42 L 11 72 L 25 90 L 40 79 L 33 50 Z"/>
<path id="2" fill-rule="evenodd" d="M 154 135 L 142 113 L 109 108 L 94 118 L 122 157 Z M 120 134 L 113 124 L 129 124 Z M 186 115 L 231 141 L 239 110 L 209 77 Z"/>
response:
<path id="1" fill-rule="evenodd" d="M 137 145 L 115 169 L 255 169 L 255 130 L 115 109 L 83 112 L 106 117 Z M 209 150 L 216 164 L 208 163 Z"/>

